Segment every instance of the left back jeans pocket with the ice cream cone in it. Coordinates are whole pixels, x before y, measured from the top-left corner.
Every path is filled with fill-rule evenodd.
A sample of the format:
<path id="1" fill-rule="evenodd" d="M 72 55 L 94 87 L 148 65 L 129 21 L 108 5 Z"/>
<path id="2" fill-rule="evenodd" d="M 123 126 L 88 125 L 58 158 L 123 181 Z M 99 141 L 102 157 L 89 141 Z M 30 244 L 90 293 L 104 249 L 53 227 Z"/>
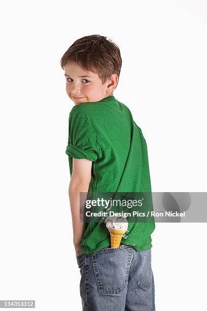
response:
<path id="1" fill-rule="evenodd" d="M 98 293 L 118 294 L 128 283 L 131 250 L 122 244 L 107 246 L 91 255 Z"/>

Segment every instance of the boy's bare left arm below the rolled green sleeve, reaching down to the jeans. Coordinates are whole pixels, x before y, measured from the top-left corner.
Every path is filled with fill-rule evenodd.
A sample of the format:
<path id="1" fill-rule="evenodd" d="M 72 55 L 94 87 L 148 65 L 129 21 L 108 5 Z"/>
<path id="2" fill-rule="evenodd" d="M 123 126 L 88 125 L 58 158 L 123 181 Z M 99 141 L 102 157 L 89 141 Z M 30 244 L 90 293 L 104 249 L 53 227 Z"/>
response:
<path id="1" fill-rule="evenodd" d="M 73 158 L 73 172 L 68 189 L 73 221 L 73 243 L 76 256 L 81 254 L 84 223 L 80 222 L 80 192 L 88 192 L 91 181 L 92 161 Z"/>

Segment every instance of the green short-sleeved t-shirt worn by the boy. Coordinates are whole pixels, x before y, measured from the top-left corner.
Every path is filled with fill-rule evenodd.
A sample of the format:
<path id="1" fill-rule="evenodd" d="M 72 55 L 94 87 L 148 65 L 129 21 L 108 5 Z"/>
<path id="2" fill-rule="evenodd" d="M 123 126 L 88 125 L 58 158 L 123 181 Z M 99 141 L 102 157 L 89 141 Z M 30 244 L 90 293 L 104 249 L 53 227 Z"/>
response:
<path id="1" fill-rule="evenodd" d="M 90 193 L 151 192 L 146 140 L 129 108 L 114 96 L 72 108 L 65 153 L 71 175 L 73 158 L 92 161 Z M 148 250 L 154 229 L 154 222 L 129 223 L 121 244 Z M 84 222 L 83 254 L 110 246 L 110 241 L 104 222 Z"/>

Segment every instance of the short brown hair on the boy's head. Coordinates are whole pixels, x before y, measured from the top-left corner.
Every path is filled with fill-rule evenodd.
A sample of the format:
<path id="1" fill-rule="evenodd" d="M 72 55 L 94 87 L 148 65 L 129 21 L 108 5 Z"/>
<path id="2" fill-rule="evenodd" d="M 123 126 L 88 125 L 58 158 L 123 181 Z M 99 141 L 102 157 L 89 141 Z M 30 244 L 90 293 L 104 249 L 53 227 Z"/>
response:
<path id="1" fill-rule="evenodd" d="M 60 60 L 62 69 L 68 63 L 97 73 L 103 84 L 114 73 L 119 78 L 122 59 L 118 46 L 112 40 L 100 35 L 91 35 L 76 40 L 67 49 Z"/>

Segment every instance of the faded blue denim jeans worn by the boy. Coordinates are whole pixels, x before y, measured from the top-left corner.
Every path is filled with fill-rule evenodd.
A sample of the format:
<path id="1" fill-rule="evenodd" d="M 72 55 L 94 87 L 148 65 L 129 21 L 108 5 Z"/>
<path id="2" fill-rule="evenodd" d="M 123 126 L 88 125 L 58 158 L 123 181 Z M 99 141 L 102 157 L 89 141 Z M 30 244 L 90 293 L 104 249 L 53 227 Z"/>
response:
<path id="1" fill-rule="evenodd" d="M 120 244 L 76 258 L 83 311 L 155 311 L 151 248 Z"/>

